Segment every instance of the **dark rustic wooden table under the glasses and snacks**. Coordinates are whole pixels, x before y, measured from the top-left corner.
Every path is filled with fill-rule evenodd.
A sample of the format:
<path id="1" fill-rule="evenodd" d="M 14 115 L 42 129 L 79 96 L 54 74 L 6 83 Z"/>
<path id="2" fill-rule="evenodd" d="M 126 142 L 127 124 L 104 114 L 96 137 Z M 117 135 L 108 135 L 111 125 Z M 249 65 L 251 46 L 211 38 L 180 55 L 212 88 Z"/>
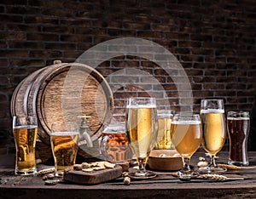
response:
<path id="1" fill-rule="evenodd" d="M 192 165 L 199 156 L 204 153 L 195 153 Z M 227 162 L 228 152 L 220 152 L 218 156 L 218 162 Z M 249 152 L 249 161 L 256 166 L 256 152 Z M 244 178 L 225 182 L 201 179 L 181 182 L 170 172 L 157 173 L 154 179 L 131 180 L 131 185 L 124 185 L 122 178 L 100 185 L 44 185 L 39 176 L 15 176 L 14 156 L 0 156 L 0 198 L 256 198 L 256 168 L 224 173 L 227 177 Z"/>

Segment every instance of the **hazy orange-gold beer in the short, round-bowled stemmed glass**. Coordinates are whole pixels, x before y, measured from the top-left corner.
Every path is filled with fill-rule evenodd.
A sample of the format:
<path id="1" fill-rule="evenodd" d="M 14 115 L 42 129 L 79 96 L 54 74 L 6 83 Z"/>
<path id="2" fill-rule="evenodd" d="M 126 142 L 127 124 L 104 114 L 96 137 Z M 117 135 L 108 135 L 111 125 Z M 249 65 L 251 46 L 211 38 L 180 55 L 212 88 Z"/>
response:
<path id="1" fill-rule="evenodd" d="M 174 121 L 171 126 L 172 144 L 183 157 L 191 157 L 201 145 L 200 121 Z"/>

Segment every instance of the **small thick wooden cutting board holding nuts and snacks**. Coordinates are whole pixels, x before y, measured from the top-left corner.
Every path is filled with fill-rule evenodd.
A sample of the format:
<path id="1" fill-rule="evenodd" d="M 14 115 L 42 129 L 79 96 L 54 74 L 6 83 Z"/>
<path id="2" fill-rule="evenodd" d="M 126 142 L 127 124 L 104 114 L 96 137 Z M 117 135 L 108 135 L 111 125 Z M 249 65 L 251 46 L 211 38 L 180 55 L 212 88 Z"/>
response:
<path id="1" fill-rule="evenodd" d="M 66 170 L 64 180 L 79 185 L 96 185 L 117 179 L 122 175 L 122 167 L 116 165 L 115 168 L 106 168 L 104 170 L 83 172 L 76 170 Z"/>

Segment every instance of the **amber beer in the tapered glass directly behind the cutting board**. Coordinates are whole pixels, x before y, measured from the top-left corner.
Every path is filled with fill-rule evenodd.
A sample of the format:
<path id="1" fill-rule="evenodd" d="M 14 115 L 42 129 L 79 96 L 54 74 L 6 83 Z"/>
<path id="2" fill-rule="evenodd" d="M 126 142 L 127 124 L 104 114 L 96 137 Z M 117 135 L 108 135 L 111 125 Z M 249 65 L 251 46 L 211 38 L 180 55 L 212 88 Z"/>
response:
<path id="1" fill-rule="evenodd" d="M 50 145 L 55 160 L 55 175 L 62 176 L 66 168 L 73 168 L 78 152 L 79 132 L 54 132 Z"/>

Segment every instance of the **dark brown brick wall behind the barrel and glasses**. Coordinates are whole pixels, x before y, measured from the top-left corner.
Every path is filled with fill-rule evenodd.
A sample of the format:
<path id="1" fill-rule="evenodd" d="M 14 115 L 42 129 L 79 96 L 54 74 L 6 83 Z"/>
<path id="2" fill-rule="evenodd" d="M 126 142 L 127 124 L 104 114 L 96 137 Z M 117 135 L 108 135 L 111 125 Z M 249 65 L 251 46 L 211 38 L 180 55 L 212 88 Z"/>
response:
<path id="1" fill-rule="evenodd" d="M 200 100 L 204 98 L 224 99 L 226 110 L 250 110 L 256 75 L 255 11 L 254 0 L 0 3 L 1 144 L 7 145 L 7 152 L 14 146 L 10 99 L 24 77 L 52 64 L 53 60 L 73 62 L 96 44 L 119 37 L 148 39 L 168 49 L 189 77 L 195 111 L 199 111 Z M 129 67 L 157 78 L 172 109 L 178 111 L 177 88 L 172 77 L 152 61 L 121 56 L 105 61 L 96 69 L 108 77 L 113 71 Z M 127 96 L 144 96 L 143 89 L 163 97 L 147 77 L 136 85 L 132 77 L 129 81 L 123 82 L 114 93 L 115 113 L 122 112 Z M 114 82 L 110 84 L 114 87 Z"/>

